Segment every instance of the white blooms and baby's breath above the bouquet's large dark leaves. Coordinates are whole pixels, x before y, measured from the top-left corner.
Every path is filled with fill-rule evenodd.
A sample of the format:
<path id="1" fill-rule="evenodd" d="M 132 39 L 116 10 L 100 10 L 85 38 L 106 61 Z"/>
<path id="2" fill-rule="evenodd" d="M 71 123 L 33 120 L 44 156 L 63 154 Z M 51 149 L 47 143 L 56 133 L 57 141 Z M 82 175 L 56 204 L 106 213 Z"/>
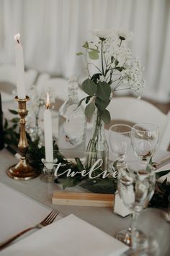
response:
<path id="1" fill-rule="evenodd" d="M 96 77 L 93 75 L 97 74 L 99 79 L 94 82 L 107 82 L 112 92 L 131 89 L 138 94 L 142 93 L 145 86 L 143 67 L 138 59 L 133 58 L 132 51 L 126 46 L 126 41 L 133 39 L 133 33 L 122 29 L 92 30 L 91 33 L 97 36 L 97 42 L 89 42 L 89 48 L 86 48 L 89 53 L 86 55 L 89 77 Z M 97 59 L 99 67 L 97 62 L 94 65 L 92 63 Z M 89 70 L 91 65 L 97 70 L 94 74 Z"/>

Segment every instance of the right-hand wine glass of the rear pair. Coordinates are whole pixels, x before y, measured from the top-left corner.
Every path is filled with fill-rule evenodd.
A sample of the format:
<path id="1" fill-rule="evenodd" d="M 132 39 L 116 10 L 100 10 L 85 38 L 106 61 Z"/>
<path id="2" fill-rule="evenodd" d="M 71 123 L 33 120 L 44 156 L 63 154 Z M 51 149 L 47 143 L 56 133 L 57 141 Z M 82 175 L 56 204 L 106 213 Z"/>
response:
<path id="1" fill-rule="evenodd" d="M 158 143 L 158 127 L 155 124 L 135 124 L 131 132 L 133 150 L 138 159 L 147 166 Z"/>

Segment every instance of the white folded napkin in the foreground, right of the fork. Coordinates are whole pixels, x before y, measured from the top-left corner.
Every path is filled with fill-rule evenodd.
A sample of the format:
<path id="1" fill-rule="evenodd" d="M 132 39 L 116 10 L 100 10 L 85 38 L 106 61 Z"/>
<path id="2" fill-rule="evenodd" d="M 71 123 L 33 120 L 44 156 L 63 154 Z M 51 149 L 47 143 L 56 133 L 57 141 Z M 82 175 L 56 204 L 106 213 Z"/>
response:
<path id="1" fill-rule="evenodd" d="M 0 252 L 1 256 L 118 256 L 127 246 L 72 214 Z"/>

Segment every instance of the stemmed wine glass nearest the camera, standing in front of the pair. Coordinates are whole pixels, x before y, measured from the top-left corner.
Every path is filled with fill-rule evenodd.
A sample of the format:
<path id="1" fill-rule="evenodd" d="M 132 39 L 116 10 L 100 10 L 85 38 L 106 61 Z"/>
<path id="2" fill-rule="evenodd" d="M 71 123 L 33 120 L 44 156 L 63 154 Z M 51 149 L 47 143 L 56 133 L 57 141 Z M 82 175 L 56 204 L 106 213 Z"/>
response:
<path id="1" fill-rule="evenodd" d="M 125 244 L 133 245 L 133 248 L 143 246 L 146 243 L 146 236 L 143 232 L 135 229 L 135 221 L 140 215 L 141 210 L 146 208 L 151 200 L 155 182 L 154 171 L 149 168 L 146 171 L 143 168 L 143 164 L 139 161 L 127 163 L 127 168 L 119 173 L 117 179 L 118 192 L 125 206 L 132 212 L 132 215 L 130 228 L 120 231 L 116 238 Z"/>

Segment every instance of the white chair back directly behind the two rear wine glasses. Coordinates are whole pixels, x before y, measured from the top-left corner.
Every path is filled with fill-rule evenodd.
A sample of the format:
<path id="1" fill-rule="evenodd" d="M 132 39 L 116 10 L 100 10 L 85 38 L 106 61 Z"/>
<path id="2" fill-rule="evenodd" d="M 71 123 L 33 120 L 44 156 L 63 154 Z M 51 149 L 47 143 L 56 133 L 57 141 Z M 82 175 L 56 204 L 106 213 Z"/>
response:
<path id="1" fill-rule="evenodd" d="M 113 98 L 107 110 L 111 119 L 137 123 L 152 123 L 159 127 L 160 148 L 167 150 L 170 142 L 170 111 L 168 114 L 161 112 L 156 106 L 144 100 L 131 97 Z"/>

